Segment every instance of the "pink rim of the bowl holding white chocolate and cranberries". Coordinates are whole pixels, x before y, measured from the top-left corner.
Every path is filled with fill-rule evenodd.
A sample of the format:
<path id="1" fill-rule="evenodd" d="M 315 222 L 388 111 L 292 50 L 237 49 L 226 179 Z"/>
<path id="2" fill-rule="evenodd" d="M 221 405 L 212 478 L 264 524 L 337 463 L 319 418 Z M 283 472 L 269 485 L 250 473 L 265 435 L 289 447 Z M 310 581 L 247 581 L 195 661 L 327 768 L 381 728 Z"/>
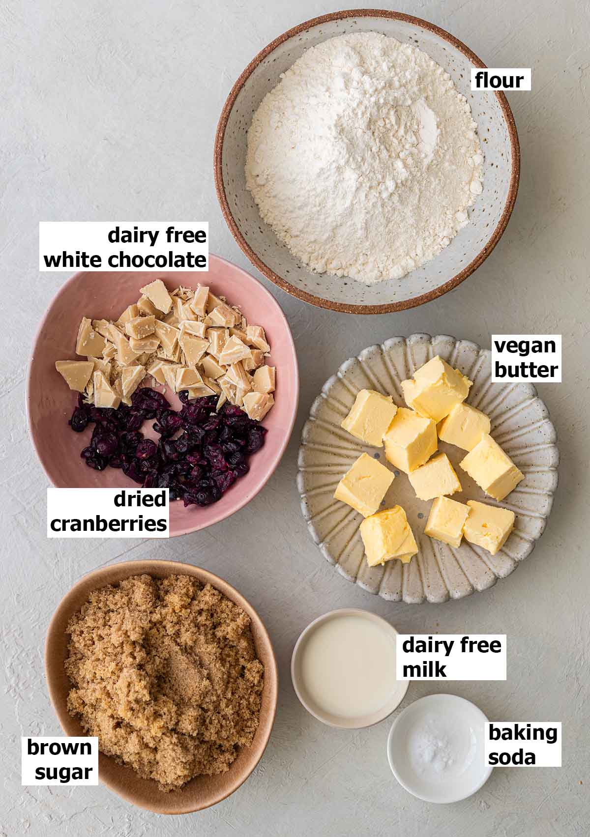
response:
<path id="1" fill-rule="evenodd" d="M 280 460 L 282 460 L 283 455 L 285 454 L 285 450 L 287 449 L 287 445 L 289 444 L 291 435 L 293 434 L 293 428 L 295 427 L 295 419 L 297 418 L 297 409 L 299 408 L 299 398 L 300 398 L 299 361 L 298 361 L 298 358 L 297 358 L 297 352 L 295 351 L 295 341 L 293 340 L 293 335 L 291 333 L 289 321 L 287 320 L 287 318 L 285 316 L 285 311 L 283 311 L 279 302 L 274 299 L 274 296 L 270 293 L 269 289 L 264 287 L 262 282 L 259 279 L 256 279 L 255 276 L 249 274 L 247 270 L 244 270 L 244 268 L 239 267 L 239 264 L 233 264 L 233 262 L 229 261 L 229 259 L 223 259 L 223 256 L 218 256 L 217 254 L 214 254 L 214 253 L 211 253 L 211 252 L 209 253 L 209 259 L 215 259 L 218 262 L 222 262 L 223 264 L 230 265 L 230 267 L 232 267 L 235 270 L 240 270 L 245 276 L 248 277 L 249 280 L 251 280 L 256 285 L 258 285 L 259 289 L 264 293 L 264 295 L 266 295 L 269 298 L 269 300 L 271 300 L 272 303 L 274 303 L 274 306 L 275 306 L 275 309 L 276 309 L 276 316 L 278 318 L 280 318 L 280 321 L 285 328 L 285 334 L 286 334 L 286 337 L 287 337 L 287 342 L 288 342 L 288 346 L 289 346 L 289 350 L 290 350 L 290 357 L 292 358 L 292 361 L 293 361 L 293 367 L 294 367 L 294 371 L 295 371 L 295 378 L 294 378 L 295 401 L 293 403 L 293 408 L 291 410 L 290 421 L 289 421 L 289 425 L 287 427 L 287 432 L 285 433 L 284 438 L 280 442 L 279 448 L 277 449 L 277 452 L 274 456 L 274 460 L 272 461 L 268 472 L 266 472 L 265 474 L 263 474 L 261 476 L 259 481 L 253 486 L 253 489 L 251 491 L 248 491 L 248 492 L 243 492 L 242 496 L 240 497 L 240 500 L 236 503 L 236 505 L 233 507 L 233 509 L 231 511 L 229 511 L 227 514 L 223 514 L 223 513 L 218 511 L 218 512 L 213 514 L 212 520 L 210 520 L 205 526 L 199 525 L 198 522 L 195 526 L 183 526 L 181 529 L 179 529 L 178 531 L 175 531 L 174 534 L 173 535 L 171 534 L 169 537 L 181 537 L 182 535 L 188 535 L 193 531 L 201 531 L 203 529 L 208 529 L 209 526 L 214 526 L 216 523 L 220 523 L 221 521 L 228 520 L 229 517 L 231 517 L 237 511 L 240 511 L 241 509 L 243 509 L 244 506 L 247 506 L 250 501 L 254 500 L 254 497 L 259 495 L 260 491 L 263 490 L 264 485 L 266 485 L 266 483 L 269 481 L 270 477 L 274 474 L 274 471 L 278 468 L 278 466 L 280 464 Z M 33 421 L 32 421 L 32 417 L 31 417 L 31 413 L 30 413 L 31 404 L 33 403 L 33 393 L 31 391 L 31 386 L 32 386 L 31 377 L 32 377 L 32 370 L 33 370 L 33 361 L 34 361 L 34 357 L 35 357 L 35 347 L 37 346 L 39 337 L 41 336 L 41 333 L 44 330 L 44 326 L 46 325 L 47 321 L 49 320 L 49 316 L 51 314 L 52 308 L 54 306 L 54 302 L 57 299 L 57 297 L 61 293 L 63 293 L 67 288 L 69 288 L 70 285 L 74 285 L 74 282 L 79 280 L 81 275 L 84 275 L 85 273 L 88 273 L 88 272 L 90 272 L 90 271 L 78 270 L 78 271 L 76 271 L 76 273 L 74 273 L 74 275 L 71 275 L 69 277 L 69 279 L 65 280 L 62 285 L 59 285 L 58 290 L 54 293 L 54 295 L 49 300 L 49 303 L 48 303 L 47 307 L 45 308 L 44 314 L 43 314 L 43 316 L 41 317 L 41 319 L 38 323 L 37 329 L 36 329 L 35 334 L 33 336 L 33 341 L 32 341 L 32 344 L 31 344 L 31 354 L 30 354 L 30 357 L 29 357 L 29 360 L 28 360 L 27 377 L 26 377 L 26 381 L 25 381 L 25 394 L 24 394 L 25 412 L 27 414 L 28 437 L 31 440 L 31 443 L 33 444 L 33 449 L 34 449 L 35 453 L 37 454 L 38 463 L 41 465 L 42 469 L 44 470 L 44 474 L 47 477 L 47 479 L 49 480 L 49 484 L 54 485 L 54 486 L 56 484 L 55 484 L 54 479 L 53 479 L 52 475 L 49 473 L 49 470 L 48 470 L 48 468 L 45 464 L 44 453 L 40 449 L 39 445 L 37 444 L 37 439 L 35 437 L 35 434 L 33 433 Z M 100 273 L 100 271 L 96 271 L 96 272 Z M 121 270 L 121 271 L 118 271 L 118 272 L 134 273 L 136 271 Z M 157 278 L 157 271 L 153 270 L 151 272 L 154 273 L 156 275 L 156 278 Z M 160 271 L 160 275 L 165 275 L 165 274 L 170 273 L 170 272 L 172 272 L 172 271 L 162 270 L 162 271 Z M 194 272 L 199 273 L 199 274 L 203 273 L 203 271 L 194 271 Z M 56 487 L 71 487 L 71 486 L 56 486 Z M 123 486 L 123 487 L 127 487 L 127 486 Z M 213 506 L 213 508 L 214 508 L 214 506 Z"/>

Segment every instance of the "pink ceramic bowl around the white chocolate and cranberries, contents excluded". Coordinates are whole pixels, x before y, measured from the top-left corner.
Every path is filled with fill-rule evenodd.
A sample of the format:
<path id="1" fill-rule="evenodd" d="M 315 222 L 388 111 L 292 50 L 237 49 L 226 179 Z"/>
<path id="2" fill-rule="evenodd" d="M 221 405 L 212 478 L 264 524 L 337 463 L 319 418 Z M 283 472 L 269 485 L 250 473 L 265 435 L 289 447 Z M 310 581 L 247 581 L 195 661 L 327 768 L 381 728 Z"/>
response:
<path id="1" fill-rule="evenodd" d="M 258 494 L 279 464 L 295 422 L 299 398 L 297 357 L 289 324 L 279 304 L 259 281 L 235 264 L 218 256 L 209 256 L 208 273 L 174 271 L 162 273 L 77 273 L 55 296 L 45 313 L 33 344 L 28 370 L 28 425 L 41 465 L 53 485 L 59 488 L 137 487 L 121 470 L 95 471 L 80 459 L 80 450 L 88 444 L 91 428 L 74 433 L 68 419 L 77 393 L 71 392 L 55 371 L 55 361 L 75 358 L 75 341 L 82 316 L 91 319 L 116 319 L 126 306 L 136 302 L 141 285 L 162 279 L 168 288 L 183 285 L 195 288 L 208 285 L 214 294 L 227 296 L 240 306 L 249 322 L 263 326 L 269 339 L 269 364 L 276 367 L 275 403 L 264 419 L 268 434 L 264 447 L 250 457 L 250 470 L 232 485 L 212 506 L 188 506 L 174 501 L 170 509 L 170 534 L 185 535 L 198 531 L 243 508 Z M 176 396 L 167 393 L 175 408 Z M 146 422 L 144 432 L 151 427 Z"/>

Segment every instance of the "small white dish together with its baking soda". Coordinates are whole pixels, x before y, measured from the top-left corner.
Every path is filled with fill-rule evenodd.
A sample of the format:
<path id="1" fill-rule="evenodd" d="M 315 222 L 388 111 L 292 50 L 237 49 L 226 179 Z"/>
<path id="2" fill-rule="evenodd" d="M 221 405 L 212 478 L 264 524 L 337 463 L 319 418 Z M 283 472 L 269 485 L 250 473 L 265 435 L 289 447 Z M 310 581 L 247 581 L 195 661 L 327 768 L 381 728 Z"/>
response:
<path id="1" fill-rule="evenodd" d="M 490 778 L 485 764 L 488 719 L 471 701 L 456 695 L 428 695 L 393 721 L 387 760 L 403 788 L 424 802 L 459 802 Z"/>

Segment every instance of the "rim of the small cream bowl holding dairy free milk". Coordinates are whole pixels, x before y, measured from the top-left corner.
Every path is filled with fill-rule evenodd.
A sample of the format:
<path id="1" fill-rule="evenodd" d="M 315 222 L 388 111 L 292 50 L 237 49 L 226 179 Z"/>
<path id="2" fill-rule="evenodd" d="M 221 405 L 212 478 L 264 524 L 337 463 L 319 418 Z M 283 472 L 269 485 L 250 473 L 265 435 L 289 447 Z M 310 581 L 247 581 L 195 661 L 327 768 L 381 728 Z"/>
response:
<path id="1" fill-rule="evenodd" d="M 392 634 L 395 636 L 398 636 L 398 629 L 396 629 L 390 622 L 387 622 L 387 619 L 384 619 L 382 616 L 379 616 L 378 614 L 372 613 L 371 610 L 366 610 L 364 608 L 336 608 L 336 610 L 329 610 L 326 614 L 321 614 L 321 616 L 316 617 L 316 619 L 312 619 L 310 624 L 308 624 L 301 631 L 297 641 L 295 642 L 290 662 L 291 682 L 293 684 L 295 695 L 298 697 L 301 706 L 304 706 L 304 708 L 310 713 L 310 715 L 315 717 L 317 721 L 321 721 L 322 724 L 326 724 L 326 727 L 334 727 L 336 729 L 348 730 L 366 729 L 367 727 L 374 727 L 376 724 L 381 723 L 381 721 L 385 721 L 386 718 L 388 718 L 390 715 L 392 715 L 394 711 L 398 709 L 398 707 L 405 700 L 406 695 L 408 693 L 408 687 L 410 685 L 409 680 L 405 681 L 405 688 L 404 686 L 401 686 L 402 694 L 395 706 L 391 706 L 390 704 L 386 703 L 384 704 L 384 706 L 382 706 L 381 709 L 377 711 L 367 713 L 367 715 L 363 716 L 351 717 L 347 719 L 347 723 L 337 724 L 334 721 L 330 720 L 331 713 L 322 712 L 319 706 L 314 706 L 305 699 L 305 694 L 302 689 L 303 684 L 296 668 L 297 662 L 301 654 L 301 650 L 303 649 L 303 645 L 305 643 L 305 639 L 307 639 L 307 637 L 314 630 L 319 628 L 321 624 L 329 622 L 331 621 L 331 619 L 339 619 L 342 616 L 361 616 L 362 619 L 368 619 L 369 621 L 374 622 L 376 624 L 381 624 L 383 628 L 387 629 L 387 631 L 392 632 Z M 401 680 L 398 680 L 398 682 L 403 683 L 403 681 Z M 358 721 L 361 722 L 359 723 Z"/>

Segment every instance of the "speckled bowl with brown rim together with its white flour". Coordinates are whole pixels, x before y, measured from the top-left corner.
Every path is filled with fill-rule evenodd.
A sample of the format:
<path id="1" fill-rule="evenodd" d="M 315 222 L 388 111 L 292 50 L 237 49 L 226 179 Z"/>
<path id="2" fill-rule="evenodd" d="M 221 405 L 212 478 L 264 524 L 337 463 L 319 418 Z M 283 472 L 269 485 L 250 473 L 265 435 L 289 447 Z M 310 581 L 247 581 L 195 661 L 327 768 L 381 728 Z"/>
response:
<path id="1" fill-rule="evenodd" d="M 215 180 L 252 263 L 316 306 L 400 311 L 459 285 L 504 232 L 520 153 L 484 64 L 419 18 L 353 10 L 302 23 L 241 74 Z"/>

